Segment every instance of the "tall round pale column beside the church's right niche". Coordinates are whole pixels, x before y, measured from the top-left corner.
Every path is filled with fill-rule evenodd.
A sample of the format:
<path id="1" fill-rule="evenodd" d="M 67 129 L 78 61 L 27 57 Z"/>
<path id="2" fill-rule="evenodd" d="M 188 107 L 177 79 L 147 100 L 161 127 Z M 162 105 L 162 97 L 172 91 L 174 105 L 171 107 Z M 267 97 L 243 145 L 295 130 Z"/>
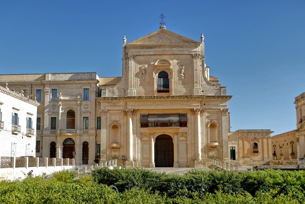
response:
<path id="1" fill-rule="evenodd" d="M 200 111 L 201 108 L 195 108 L 195 153 L 196 153 L 196 160 L 194 167 L 202 167 L 201 161 L 201 132 L 200 132 Z"/>

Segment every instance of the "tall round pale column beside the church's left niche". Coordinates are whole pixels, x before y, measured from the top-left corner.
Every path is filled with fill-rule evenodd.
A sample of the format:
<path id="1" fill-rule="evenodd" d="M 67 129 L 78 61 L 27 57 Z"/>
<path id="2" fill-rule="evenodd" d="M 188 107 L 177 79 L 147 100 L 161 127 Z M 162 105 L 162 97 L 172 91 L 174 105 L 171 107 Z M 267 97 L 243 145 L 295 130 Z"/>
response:
<path id="1" fill-rule="evenodd" d="M 133 155 L 132 155 L 132 111 L 133 109 L 126 109 L 127 112 L 127 161 L 126 167 L 133 167 Z"/>

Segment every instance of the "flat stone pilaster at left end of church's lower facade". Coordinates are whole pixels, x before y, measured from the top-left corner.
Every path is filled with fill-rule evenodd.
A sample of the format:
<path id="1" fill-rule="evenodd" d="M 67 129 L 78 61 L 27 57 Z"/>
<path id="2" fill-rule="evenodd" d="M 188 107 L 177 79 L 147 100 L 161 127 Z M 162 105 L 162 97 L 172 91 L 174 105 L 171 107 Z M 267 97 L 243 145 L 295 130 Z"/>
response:
<path id="1" fill-rule="evenodd" d="M 102 166 L 106 162 L 107 153 L 107 110 L 99 110 L 99 112 L 101 113 L 101 159 L 99 165 Z"/>

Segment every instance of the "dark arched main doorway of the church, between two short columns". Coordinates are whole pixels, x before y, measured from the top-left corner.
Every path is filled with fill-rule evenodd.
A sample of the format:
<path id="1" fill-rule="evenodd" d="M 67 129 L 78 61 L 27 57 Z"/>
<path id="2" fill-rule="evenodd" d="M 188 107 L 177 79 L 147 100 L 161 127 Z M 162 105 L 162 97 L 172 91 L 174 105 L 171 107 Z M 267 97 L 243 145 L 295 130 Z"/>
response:
<path id="1" fill-rule="evenodd" d="M 155 142 L 156 167 L 174 167 L 174 143 L 170 135 L 159 135 Z"/>

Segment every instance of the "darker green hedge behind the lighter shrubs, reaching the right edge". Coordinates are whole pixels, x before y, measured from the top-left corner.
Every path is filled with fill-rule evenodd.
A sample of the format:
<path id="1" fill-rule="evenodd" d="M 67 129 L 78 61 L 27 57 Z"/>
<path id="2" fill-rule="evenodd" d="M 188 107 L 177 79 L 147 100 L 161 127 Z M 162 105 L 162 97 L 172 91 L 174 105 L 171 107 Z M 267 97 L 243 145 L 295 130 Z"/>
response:
<path id="1" fill-rule="evenodd" d="M 254 196 L 258 191 L 277 190 L 277 195 L 290 195 L 292 198 L 305 202 L 305 172 L 263 170 L 246 172 L 191 170 L 184 175 L 159 173 L 147 169 L 96 169 L 92 176 L 99 184 L 116 186 L 120 192 L 128 189 L 131 178 L 137 181 L 140 189 L 151 189 L 153 192 L 166 193 L 171 198 L 188 197 L 183 191 L 200 192 L 201 178 L 203 188 L 208 193 L 222 191 L 231 195 L 249 193 Z"/>

